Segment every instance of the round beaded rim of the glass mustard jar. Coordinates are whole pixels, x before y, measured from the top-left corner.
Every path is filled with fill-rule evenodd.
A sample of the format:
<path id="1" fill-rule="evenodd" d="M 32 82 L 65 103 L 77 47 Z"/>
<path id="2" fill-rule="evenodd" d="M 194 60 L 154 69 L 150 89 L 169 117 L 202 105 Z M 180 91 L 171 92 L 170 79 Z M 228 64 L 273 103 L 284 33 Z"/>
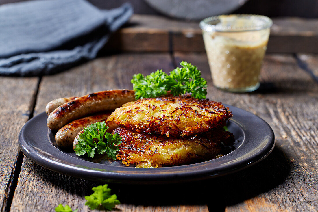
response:
<path id="1" fill-rule="evenodd" d="M 224 17 L 227 18 L 245 18 L 245 19 L 254 19 L 253 25 L 247 26 L 233 26 L 233 25 L 221 25 L 219 24 Z M 234 19 L 233 19 L 234 20 Z M 257 23 L 256 23 L 257 22 Z M 202 30 L 207 32 L 244 32 L 244 31 L 259 31 L 266 28 L 269 28 L 273 25 L 272 19 L 267 16 L 262 15 L 252 15 L 252 14 L 231 14 L 231 15 L 219 15 L 213 17 L 204 18 L 200 21 L 200 27 Z"/>

